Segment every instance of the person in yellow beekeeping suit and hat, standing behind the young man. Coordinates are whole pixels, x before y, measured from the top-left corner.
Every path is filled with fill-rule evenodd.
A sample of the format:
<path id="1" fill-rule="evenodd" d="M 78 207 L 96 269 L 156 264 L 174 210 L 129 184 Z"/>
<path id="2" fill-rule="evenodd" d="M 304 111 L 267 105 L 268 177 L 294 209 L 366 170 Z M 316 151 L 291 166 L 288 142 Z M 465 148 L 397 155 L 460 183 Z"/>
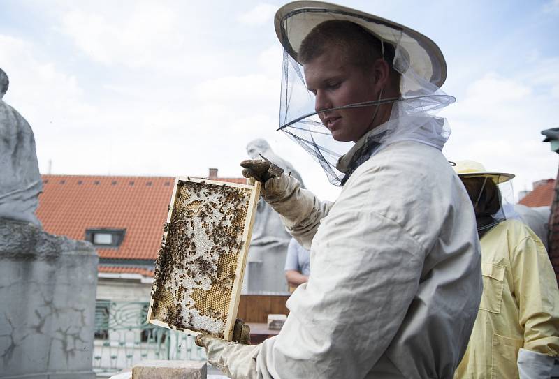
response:
<path id="1" fill-rule="evenodd" d="M 495 217 L 512 174 L 481 163 L 454 167 L 474 205 L 484 292 L 455 378 L 549 378 L 559 353 L 559 290 L 542 241 L 520 221 Z"/>

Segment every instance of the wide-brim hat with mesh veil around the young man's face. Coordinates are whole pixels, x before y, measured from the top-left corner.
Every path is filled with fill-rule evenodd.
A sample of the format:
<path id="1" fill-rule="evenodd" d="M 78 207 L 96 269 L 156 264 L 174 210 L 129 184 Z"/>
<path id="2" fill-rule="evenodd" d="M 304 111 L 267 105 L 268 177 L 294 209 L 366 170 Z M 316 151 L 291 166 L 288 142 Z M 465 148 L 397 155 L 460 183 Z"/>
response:
<path id="1" fill-rule="evenodd" d="M 387 58 L 389 54 L 385 54 L 385 48 L 382 54 L 384 59 L 391 60 L 389 64 L 401 75 L 401 97 L 365 98 L 359 103 L 320 111 L 356 107 L 372 107 L 373 111 L 378 105 L 392 103 L 389 121 L 367 134 L 368 144 L 375 142 L 379 146 L 375 154 L 393 142 L 404 140 L 415 140 L 442 149 L 450 130 L 446 120 L 435 117 L 435 112 L 455 101 L 453 96 L 439 88 L 446 77 L 446 64 L 432 41 L 379 17 L 348 13 L 347 8 L 339 8 L 307 7 L 283 14 L 280 10 L 276 15 L 276 32 L 284 46 L 278 130 L 300 144 L 321 165 L 331 184 L 337 186 L 343 183 L 345 177 L 345 173 L 336 168 L 337 162 L 354 146 L 354 142 L 334 140 L 328 128 L 321 123 L 318 112 L 314 110 L 314 94 L 307 89 L 303 66 L 297 61 L 300 44 L 314 26 L 326 20 L 349 20 L 377 37 L 382 42 L 381 46 L 387 43 L 393 46 L 393 59 Z"/>

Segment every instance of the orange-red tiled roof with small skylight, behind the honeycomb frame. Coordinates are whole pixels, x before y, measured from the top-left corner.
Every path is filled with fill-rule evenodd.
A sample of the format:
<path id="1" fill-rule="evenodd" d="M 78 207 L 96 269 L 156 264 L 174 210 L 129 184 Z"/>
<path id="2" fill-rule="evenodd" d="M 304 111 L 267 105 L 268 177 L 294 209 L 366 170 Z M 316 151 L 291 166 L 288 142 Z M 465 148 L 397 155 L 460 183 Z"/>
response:
<path id="1" fill-rule="evenodd" d="M 37 216 L 55 235 L 84 239 L 86 229 L 126 229 L 118 248 L 97 249 L 100 258 L 155 260 L 161 243 L 173 177 L 42 175 Z M 217 178 L 244 184 L 244 178 Z"/>

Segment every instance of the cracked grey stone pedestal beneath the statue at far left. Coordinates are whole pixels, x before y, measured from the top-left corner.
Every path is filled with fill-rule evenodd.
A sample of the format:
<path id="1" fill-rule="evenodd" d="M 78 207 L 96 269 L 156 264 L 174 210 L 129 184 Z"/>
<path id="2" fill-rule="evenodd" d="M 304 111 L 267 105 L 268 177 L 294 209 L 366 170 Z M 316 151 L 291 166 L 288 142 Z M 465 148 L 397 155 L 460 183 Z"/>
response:
<path id="1" fill-rule="evenodd" d="M 91 244 L 0 218 L 0 378 L 93 379 Z"/>

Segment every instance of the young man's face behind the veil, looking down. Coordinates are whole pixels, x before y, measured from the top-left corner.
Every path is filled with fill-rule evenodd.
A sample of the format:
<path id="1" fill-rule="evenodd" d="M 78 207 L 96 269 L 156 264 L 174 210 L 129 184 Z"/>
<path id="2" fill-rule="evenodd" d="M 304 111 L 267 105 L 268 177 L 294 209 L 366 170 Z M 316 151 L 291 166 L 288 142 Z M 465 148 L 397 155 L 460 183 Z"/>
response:
<path id="1" fill-rule="evenodd" d="M 377 100 L 379 89 L 372 74 L 349 64 L 345 51 L 329 47 L 324 54 L 303 65 L 307 88 L 316 95 L 314 110 Z M 373 127 L 376 105 L 319 113 L 320 120 L 337 141 L 356 142 Z"/>

